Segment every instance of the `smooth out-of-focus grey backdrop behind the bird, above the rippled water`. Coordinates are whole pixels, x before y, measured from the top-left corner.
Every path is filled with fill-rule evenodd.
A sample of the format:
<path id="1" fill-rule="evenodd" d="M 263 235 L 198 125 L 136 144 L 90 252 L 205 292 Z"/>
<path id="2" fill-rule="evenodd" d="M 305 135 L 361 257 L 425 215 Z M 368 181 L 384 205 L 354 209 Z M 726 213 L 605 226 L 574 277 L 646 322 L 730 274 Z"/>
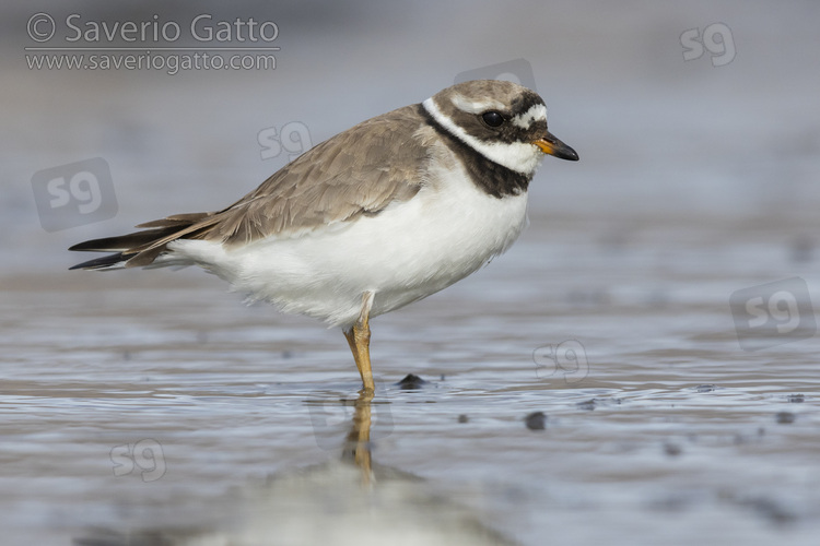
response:
<path id="1" fill-rule="evenodd" d="M 5 5 L 2 269 L 69 265 L 74 257 L 62 250 L 73 241 L 232 202 L 288 161 L 271 151 L 262 158 L 261 131 L 296 121 L 315 144 L 421 102 L 462 72 L 516 59 L 531 67 L 551 130 L 583 159 L 546 163 L 532 187 L 535 214 L 609 237 L 660 222 L 708 223 L 740 238 L 788 226 L 811 239 L 820 199 L 818 10 L 808 1 L 776 10 L 731 1 Z M 26 34 L 38 11 L 57 26 L 44 43 Z M 174 22 L 181 33 L 169 45 L 181 47 L 247 45 L 236 36 L 198 44 L 189 26 L 202 13 L 212 19 L 201 36 L 208 23 L 272 21 L 279 34 L 261 45 L 281 49 L 274 70 L 30 69 L 43 54 L 26 47 L 151 48 L 151 40 L 108 43 L 104 31 L 97 43 L 84 34 L 69 43 L 71 13 L 83 33 L 94 22 L 155 21 L 160 29 Z M 116 215 L 45 233 L 34 174 L 93 157 L 110 167 Z"/>

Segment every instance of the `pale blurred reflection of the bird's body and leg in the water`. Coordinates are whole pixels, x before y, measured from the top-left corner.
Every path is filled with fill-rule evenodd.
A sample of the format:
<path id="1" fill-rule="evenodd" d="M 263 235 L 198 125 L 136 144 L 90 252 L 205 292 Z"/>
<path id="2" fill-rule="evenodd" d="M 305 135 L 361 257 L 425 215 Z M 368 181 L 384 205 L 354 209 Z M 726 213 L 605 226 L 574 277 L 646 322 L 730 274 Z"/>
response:
<path id="1" fill-rule="evenodd" d="M 401 385 L 399 385 L 401 389 Z M 325 463 L 285 468 L 263 483 L 247 484 L 202 511 L 202 522 L 186 524 L 116 524 L 96 527 L 75 545 L 166 546 L 166 545 L 314 545 L 402 544 L 513 545 L 515 541 L 487 524 L 488 514 L 454 500 L 476 499 L 441 482 L 435 487 L 424 478 L 373 461 L 372 447 L 393 431 L 390 404 L 382 389 L 364 391 L 356 399 L 311 400 L 314 430 L 319 447 L 336 454 Z M 327 418 L 352 407 L 349 429 L 341 442 L 339 429 Z M 328 410 L 327 412 L 325 410 Z M 319 425 L 319 430 L 317 429 Z M 330 432 L 333 432 L 330 439 Z M 449 490 L 449 492 L 447 492 Z M 455 492 L 454 492 L 455 491 Z M 191 499 L 196 503 L 196 499 Z M 165 515 L 185 512 L 185 507 L 165 507 Z M 180 526 L 186 530 L 183 531 Z"/>

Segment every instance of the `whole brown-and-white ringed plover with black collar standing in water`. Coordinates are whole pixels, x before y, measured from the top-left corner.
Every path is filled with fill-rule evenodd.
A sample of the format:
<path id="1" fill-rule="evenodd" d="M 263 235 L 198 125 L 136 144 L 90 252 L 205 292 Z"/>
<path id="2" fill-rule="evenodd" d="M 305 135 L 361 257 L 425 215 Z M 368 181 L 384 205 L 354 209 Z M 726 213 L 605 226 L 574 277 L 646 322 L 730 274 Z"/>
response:
<path id="1" fill-rule="evenodd" d="M 507 250 L 546 155 L 578 159 L 535 91 L 462 82 L 331 136 L 222 210 L 74 245 L 113 253 L 70 269 L 198 265 L 250 301 L 341 327 L 373 393 L 371 319 Z"/>

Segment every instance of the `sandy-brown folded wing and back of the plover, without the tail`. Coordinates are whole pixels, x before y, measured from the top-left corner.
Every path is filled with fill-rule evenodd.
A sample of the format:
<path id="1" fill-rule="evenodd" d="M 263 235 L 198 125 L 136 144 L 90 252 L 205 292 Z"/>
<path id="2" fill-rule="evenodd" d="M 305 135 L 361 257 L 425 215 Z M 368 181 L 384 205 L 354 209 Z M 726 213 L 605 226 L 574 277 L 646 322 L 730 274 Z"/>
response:
<path id="1" fill-rule="evenodd" d="M 286 236 L 412 198 L 426 157 L 413 136 L 420 124 L 417 110 L 405 107 L 323 142 L 218 213 L 196 237 L 236 244 Z"/>

